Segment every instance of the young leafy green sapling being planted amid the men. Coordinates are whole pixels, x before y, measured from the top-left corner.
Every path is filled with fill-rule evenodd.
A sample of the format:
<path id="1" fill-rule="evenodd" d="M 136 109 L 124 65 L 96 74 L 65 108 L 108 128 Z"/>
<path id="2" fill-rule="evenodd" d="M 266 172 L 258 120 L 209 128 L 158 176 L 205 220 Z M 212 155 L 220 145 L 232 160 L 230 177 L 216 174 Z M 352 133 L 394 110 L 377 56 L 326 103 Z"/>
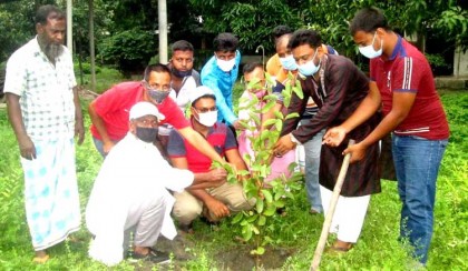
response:
<path id="1" fill-rule="evenodd" d="M 287 108 L 291 96 L 295 92 L 299 97 L 303 97 L 300 84 L 292 86 L 293 76 L 290 73 L 289 83 L 282 91 L 284 108 Z M 281 174 L 280 177 L 265 181 L 270 175 L 272 168 L 271 162 L 274 159 L 273 148 L 280 138 L 283 122 L 290 118 L 298 118 L 298 113 L 284 116 L 281 111 L 275 111 L 274 117 L 264 120 L 264 114 L 272 110 L 276 104 L 277 96 L 272 93 L 274 81 L 266 74 L 267 88 L 263 97 L 252 94 L 247 100 L 241 99 L 240 110 L 247 110 L 250 119 L 242 121 L 242 126 L 248 131 L 247 138 L 251 141 L 253 155 L 244 154 L 244 161 L 248 167 L 248 171 L 243 170 L 236 172 L 230 164 L 216 163 L 215 167 L 223 167 L 228 173 L 228 181 L 236 182 L 237 177 L 243 179 L 243 187 L 247 199 L 255 199 L 255 205 L 250 211 L 238 212 L 231 223 L 241 225 L 242 238 L 248 242 L 252 239 L 255 242 L 255 249 L 251 251 L 256 255 L 257 264 L 260 257 L 265 252 L 265 245 L 276 242 L 274 237 L 269 235 L 269 220 L 273 215 L 277 215 L 276 210 L 284 209 L 289 199 L 294 199 L 294 191 L 301 189 L 299 181 L 302 174 L 294 171 L 295 162 L 289 165 L 290 177 Z M 259 80 L 252 80 L 248 89 L 259 84 Z M 259 106 L 260 104 L 260 106 Z"/>

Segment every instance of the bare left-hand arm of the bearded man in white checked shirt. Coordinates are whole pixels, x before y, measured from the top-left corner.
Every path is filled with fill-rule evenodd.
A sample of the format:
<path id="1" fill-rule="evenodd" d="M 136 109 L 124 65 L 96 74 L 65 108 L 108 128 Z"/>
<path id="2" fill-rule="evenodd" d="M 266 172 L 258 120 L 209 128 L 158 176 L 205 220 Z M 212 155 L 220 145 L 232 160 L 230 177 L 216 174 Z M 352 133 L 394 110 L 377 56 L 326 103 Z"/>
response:
<path id="1" fill-rule="evenodd" d="M 4 96 L 8 106 L 8 117 L 17 137 L 20 154 L 28 160 L 36 159 L 35 143 L 26 132 L 25 123 L 22 122 L 21 107 L 19 104 L 20 97 L 9 92 L 4 93 Z"/>

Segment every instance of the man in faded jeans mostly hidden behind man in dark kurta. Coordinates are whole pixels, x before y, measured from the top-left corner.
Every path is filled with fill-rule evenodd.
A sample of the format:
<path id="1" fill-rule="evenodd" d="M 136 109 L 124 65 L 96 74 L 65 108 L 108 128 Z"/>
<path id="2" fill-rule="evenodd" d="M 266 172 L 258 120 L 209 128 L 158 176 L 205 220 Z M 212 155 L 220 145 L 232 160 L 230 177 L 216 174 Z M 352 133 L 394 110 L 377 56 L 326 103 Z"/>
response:
<path id="1" fill-rule="evenodd" d="M 276 39 L 276 54 L 280 59 L 281 69 L 279 69 L 275 74 L 271 76 L 276 78 L 276 86 L 273 91 L 279 96 L 279 103 L 272 109 L 271 114 L 274 114 L 274 111 L 282 110 L 283 108 L 283 98 L 281 92 L 285 88 L 284 86 L 290 81 L 289 73 L 291 72 L 294 77 L 298 74 L 298 64 L 291 53 L 291 49 L 287 48 L 291 36 L 291 33 L 286 33 Z M 338 56 L 338 52 L 331 46 L 322 44 L 321 47 L 323 53 Z M 304 113 L 301 116 L 300 124 L 309 122 L 309 120 L 312 119 L 318 111 L 319 108 L 310 97 L 305 106 Z M 322 129 L 310 140 L 296 147 L 299 165 L 301 170 L 305 171 L 305 191 L 311 204 L 309 212 L 312 214 L 323 212 L 319 188 L 319 168 L 320 150 L 322 148 L 322 137 L 324 132 L 325 130 Z"/>

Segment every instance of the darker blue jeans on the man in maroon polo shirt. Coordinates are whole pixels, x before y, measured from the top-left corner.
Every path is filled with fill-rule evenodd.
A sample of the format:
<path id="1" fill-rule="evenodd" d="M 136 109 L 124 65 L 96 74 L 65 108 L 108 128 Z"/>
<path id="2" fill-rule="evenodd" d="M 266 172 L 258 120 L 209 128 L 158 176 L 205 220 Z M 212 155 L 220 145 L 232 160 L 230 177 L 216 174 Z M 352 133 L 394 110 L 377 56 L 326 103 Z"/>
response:
<path id="1" fill-rule="evenodd" d="M 448 140 L 392 134 L 398 193 L 402 202 L 400 239 L 415 248 L 413 257 L 426 264 L 433 230 L 436 181 Z"/>

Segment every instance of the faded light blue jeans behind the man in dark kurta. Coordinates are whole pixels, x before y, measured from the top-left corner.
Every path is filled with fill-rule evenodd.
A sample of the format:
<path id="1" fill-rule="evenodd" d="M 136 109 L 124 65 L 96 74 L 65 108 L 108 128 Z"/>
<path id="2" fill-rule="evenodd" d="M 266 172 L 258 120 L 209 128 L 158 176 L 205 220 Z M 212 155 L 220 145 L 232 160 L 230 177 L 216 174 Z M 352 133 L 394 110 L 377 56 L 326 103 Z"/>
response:
<path id="1" fill-rule="evenodd" d="M 305 152 L 305 191 L 312 209 L 318 212 L 323 212 L 319 187 L 319 169 L 324 132 L 325 130 L 320 131 L 303 144 Z"/>

